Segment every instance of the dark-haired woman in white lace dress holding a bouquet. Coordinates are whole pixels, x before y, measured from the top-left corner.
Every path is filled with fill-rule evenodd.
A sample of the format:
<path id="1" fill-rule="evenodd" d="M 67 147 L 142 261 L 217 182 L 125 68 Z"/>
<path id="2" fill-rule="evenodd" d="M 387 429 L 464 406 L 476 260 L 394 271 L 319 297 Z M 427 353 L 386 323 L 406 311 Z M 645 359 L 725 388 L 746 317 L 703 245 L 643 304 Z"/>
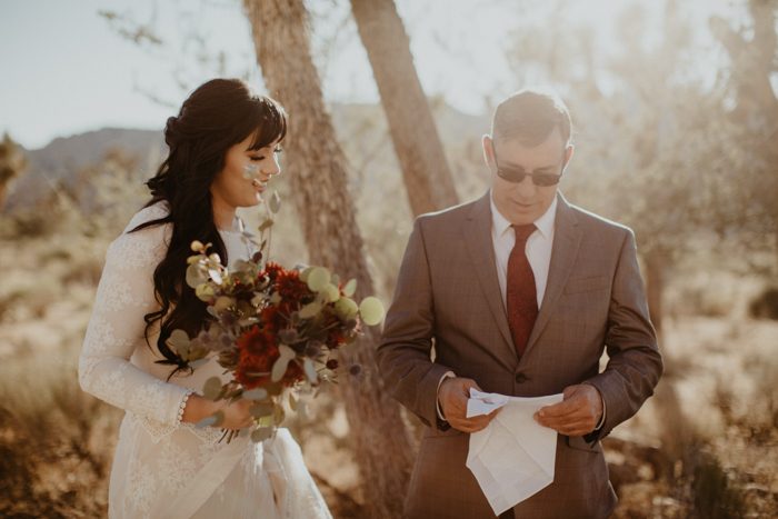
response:
<path id="1" fill-rule="evenodd" d="M 225 377 L 211 358 L 191 371 L 166 340 L 209 319 L 186 283 L 190 243 L 212 243 L 225 263 L 253 246 L 236 217 L 257 206 L 280 172 L 283 109 L 240 80 L 215 79 L 168 119 L 168 158 L 147 186 L 151 200 L 108 248 L 79 360 L 84 391 L 124 409 L 111 469 L 111 518 L 329 518 L 286 429 L 262 443 L 220 442 L 251 423 L 249 402 L 213 402 L 203 382 Z M 222 380 L 227 381 L 227 380 Z M 219 428 L 196 428 L 222 410 Z"/>

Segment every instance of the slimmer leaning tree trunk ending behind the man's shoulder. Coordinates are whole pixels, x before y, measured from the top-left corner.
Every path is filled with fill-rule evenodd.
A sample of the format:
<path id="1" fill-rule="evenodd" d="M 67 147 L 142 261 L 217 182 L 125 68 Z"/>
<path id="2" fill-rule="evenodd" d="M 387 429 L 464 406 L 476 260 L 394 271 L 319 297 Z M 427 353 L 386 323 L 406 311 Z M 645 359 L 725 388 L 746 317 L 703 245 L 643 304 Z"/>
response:
<path id="1" fill-rule="evenodd" d="M 413 214 L 458 202 L 432 112 L 393 0 L 351 0 Z"/>

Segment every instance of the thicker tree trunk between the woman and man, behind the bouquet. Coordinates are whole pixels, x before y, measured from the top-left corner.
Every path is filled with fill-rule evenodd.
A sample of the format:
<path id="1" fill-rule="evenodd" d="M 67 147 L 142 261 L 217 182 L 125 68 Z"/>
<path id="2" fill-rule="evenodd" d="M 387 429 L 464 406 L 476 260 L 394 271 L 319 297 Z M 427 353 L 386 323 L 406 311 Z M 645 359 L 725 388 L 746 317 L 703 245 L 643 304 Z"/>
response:
<path id="1" fill-rule="evenodd" d="M 372 292 L 356 210 L 348 192 L 346 157 L 325 108 L 310 53 L 308 13 L 302 0 L 243 0 L 262 76 L 271 96 L 290 116 L 286 170 L 313 265 L 356 278 L 359 293 Z M 343 352 L 359 365 L 359 377 L 340 385 L 350 436 L 361 472 L 366 515 L 395 518 L 412 461 L 411 442 L 400 409 L 387 391 L 375 360 L 378 333 L 368 330 L 357 348 Z"/>

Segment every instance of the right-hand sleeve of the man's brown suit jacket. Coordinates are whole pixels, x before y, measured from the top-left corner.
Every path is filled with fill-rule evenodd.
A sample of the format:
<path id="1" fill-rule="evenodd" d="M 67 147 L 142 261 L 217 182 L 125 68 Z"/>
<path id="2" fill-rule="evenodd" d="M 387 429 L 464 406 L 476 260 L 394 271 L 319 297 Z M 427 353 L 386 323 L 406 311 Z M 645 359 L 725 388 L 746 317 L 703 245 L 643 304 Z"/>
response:
<path id="1" fill-rule="evenodd" d="M 586 437 L 588 441 L 605 437 L 632 417 L 654 395 L 662 373 L 631 230 L 626 233 L 614 273 L 606 348 L 608 366 L 587 382 L 600 391 L 608 412 L 602 427 Z"/>

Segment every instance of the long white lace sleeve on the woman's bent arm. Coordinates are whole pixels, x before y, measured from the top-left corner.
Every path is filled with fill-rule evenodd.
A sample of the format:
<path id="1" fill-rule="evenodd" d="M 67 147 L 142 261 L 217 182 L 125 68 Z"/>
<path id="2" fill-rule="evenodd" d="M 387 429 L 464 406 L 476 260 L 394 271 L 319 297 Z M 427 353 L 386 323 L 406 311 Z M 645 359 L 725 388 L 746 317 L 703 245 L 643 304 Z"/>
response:
<path id="1" fill-rule="evenodd" d="M 143 316 L 159 308 L 152 276 L 166 253 L 168 232 L 164 226 L 124 232 L 108 248 L 79 359 L 79 382 L 108 403 L 174 426 L 189 390 L 130 362 L 137 348 L 148 348 Z"/>

